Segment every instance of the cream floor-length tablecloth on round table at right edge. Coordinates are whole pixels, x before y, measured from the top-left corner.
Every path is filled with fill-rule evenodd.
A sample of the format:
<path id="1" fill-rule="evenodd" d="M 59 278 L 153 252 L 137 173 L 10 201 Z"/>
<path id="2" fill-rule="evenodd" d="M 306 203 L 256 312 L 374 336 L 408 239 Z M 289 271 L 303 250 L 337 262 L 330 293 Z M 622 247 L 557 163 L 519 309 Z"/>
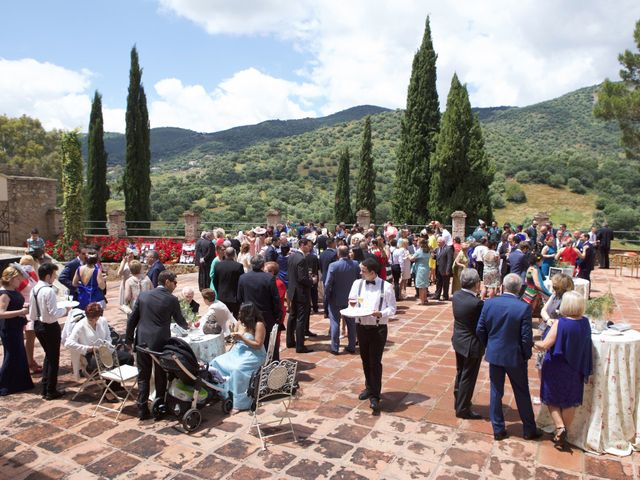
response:
<path id="1" fill-rule="evenodd" d="M 640 332 L 592 335 L 593 375 L 582 406 L 567 429 L 569 442 L 585 451 L 631 455 L 640 450 Z M 553 430 L 546 406 L 538 425 Z"/>

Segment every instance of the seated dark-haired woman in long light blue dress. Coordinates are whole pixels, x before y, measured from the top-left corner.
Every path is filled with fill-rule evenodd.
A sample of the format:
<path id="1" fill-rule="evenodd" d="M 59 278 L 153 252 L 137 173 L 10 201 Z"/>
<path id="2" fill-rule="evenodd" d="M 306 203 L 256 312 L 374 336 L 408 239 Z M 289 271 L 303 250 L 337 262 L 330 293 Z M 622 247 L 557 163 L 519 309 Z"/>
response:
<path id="1" fill-rule="evenodd" d="M 252 399 L 247 395 L 251 375 L 262 366 L 267 356 L 264 349 L 266 327 L 262 314 L 253 303 L 240 306 L 236 332 L 231 334 L 236 344 L 227 353 L 209 363 L 209 370 L 229 379 L 221 385 L 233 393 L 233 408 L 248 410 Z"/>

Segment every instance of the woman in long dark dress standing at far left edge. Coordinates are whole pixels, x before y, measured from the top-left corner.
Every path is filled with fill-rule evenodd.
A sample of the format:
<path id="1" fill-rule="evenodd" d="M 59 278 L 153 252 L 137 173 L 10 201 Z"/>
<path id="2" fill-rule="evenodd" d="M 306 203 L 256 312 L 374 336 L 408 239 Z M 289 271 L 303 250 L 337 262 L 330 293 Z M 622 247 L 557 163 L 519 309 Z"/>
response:
<path id="1" fill-rule="evenodd" d="M 33 388 L 27 353 L 24 349 L 22 329 L 27 323 L 24 298 L 16 289 L 22 281 L 20 272 L 7 267 L 2 272 L 0 290 L 0 339 L 4 348 L 0 367 L 0 396 L 23 392 Z"/>

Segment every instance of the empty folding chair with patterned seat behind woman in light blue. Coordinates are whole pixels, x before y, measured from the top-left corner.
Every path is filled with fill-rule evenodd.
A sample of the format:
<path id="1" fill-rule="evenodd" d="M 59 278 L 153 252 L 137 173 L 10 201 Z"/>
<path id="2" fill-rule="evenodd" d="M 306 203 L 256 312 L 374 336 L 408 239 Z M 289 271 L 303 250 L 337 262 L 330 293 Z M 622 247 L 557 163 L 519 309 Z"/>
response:
<path id="1" fill-rule="evenodd" d="M 264 435 L 261 430 L 261 426 L 269 425 L 272 423 L 280 426 L 282 422 L 287 419 L 291 435 L 293 435 L 293 441 L 297 442 L 296 432 L 293 430 L 293 423 L 291 419 L 296 415 L 289 411 L 291 401 L 293 400 L 296 390 L 296 372 L 298 369 L 298 362 L 292 360 L 280 360 L 279 362 L 271 362 L 268 365 L 260 367 L 260 373 L 258 375 L 258 381 L 255 385 L 255 389 L 252 392 L 255 398 L 255 402 L 252 405 L 253 418 L 251 420 L 251 428 L 256 427 L 258 430 L 258 436 L 262 443 L 262 449 L 266 450 L 265 440 L 267 438 L 275 437 L 277 435 L 284 435 L 289 433 L 289 430 L 284 432 L 276 432 L 271 435 Z M 268 422 L 261 422 L 260 417 L 265 415 L 264 409 L 261 407 L 268 402 L 280 402 L 282 403 L 282 409 L 274 413 L 275 420 Z"/>

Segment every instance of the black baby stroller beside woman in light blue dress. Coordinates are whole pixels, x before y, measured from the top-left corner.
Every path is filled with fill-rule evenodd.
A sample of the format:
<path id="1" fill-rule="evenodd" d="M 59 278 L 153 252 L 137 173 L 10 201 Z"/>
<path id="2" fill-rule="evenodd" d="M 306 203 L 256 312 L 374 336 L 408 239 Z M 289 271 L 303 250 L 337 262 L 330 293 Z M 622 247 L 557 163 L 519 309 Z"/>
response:
<path id="1" fill-rule="evenodd" d="M 206 367 L 204 370 L 200 368 L 193 350 L 181 338 L 169 339 L 162 352 L 153 352 L 140 346 L 137 348 L 149 354 L 156 363 L 156 368 L 162 368 L 168 377 L 165 398 L 156 398 L 151 407 L 154 418 L 173 413 L 182 419 L 184 429 L 192 432 L 202 422 L 199 409 L 218 400 L 222 401 L 224 413 L 229 413 L 233 408 L 232 393 L 227 392 L 226 398 L 220 395 L 225 390 L 217 386 L 219 383 Z"/>

